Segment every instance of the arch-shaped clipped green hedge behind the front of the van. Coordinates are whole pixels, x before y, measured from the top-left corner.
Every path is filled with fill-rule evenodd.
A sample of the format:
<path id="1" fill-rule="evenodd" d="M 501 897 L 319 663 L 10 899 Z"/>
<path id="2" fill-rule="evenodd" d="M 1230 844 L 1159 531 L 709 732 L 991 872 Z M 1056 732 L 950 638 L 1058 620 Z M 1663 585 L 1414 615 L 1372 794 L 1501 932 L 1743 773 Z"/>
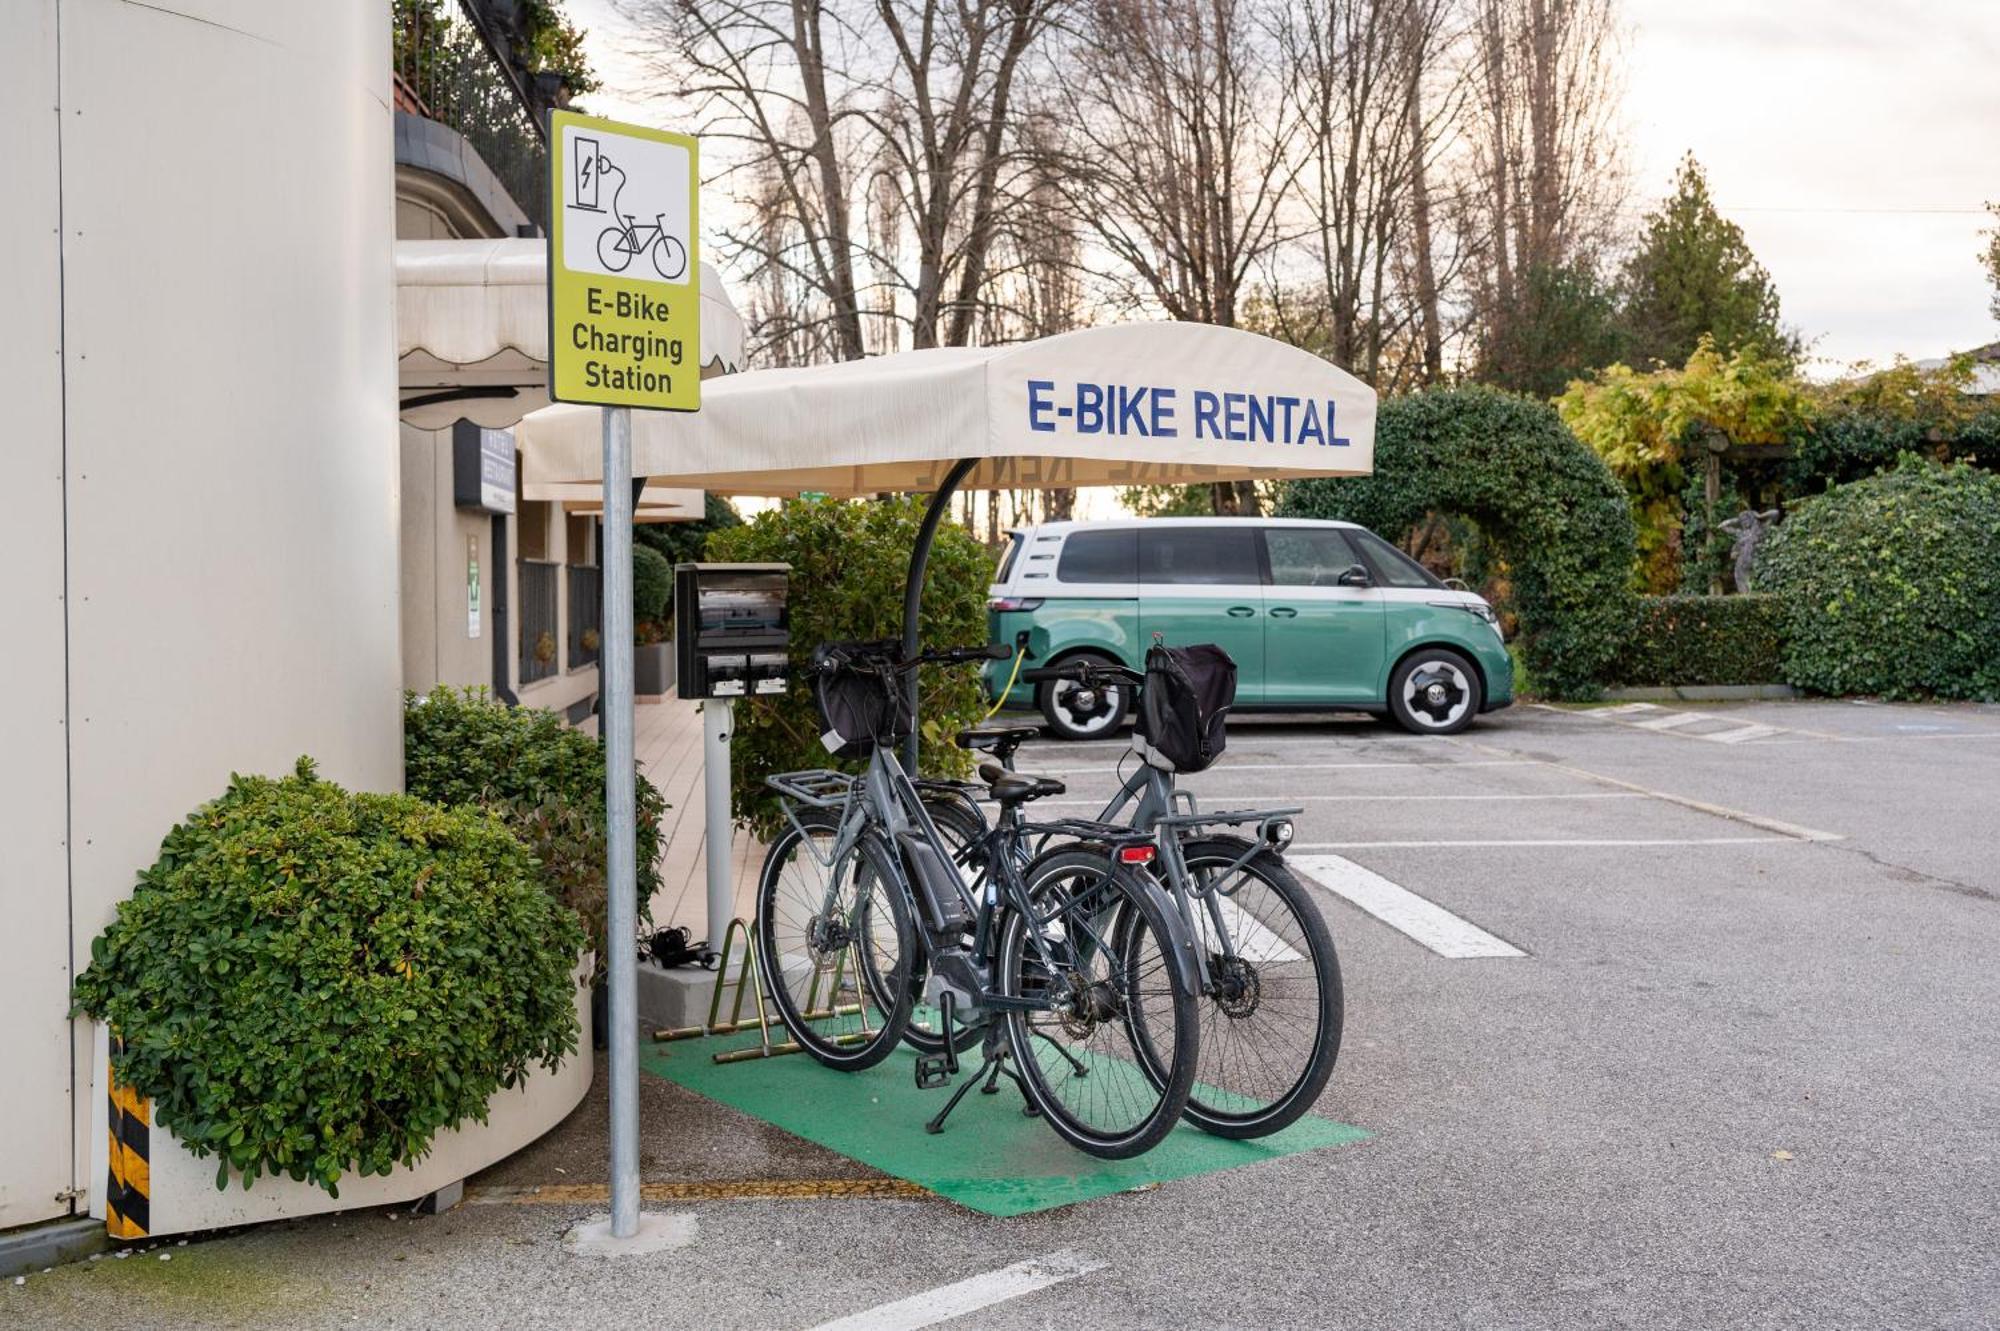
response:
<path id="1" fill-rule="evenodd" d="M 1604 462 L 1554 408 L 1494 388 L 1382 404 L 1372 476 L 1290 482 L 1286 518 L 1340 518 L 1400 540 L 1472 518 L 1512 584 L 1522 658 L 1554 697 L 1586 697 L 1632 624 L 1632 514 Z"/>

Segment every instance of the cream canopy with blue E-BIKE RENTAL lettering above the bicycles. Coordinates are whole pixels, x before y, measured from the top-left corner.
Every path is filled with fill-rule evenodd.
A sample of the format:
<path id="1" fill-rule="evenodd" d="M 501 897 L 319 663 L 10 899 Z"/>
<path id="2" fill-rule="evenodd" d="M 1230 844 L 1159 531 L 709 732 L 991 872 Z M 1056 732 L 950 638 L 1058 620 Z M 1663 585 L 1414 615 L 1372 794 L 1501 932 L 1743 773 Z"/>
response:
<path id="1" fill-rule="evenodd" d="M 1374 390 L 1298 348 L 1208 324 L 1120 324 L 702 384 L 702 410 L 634 412 L 632 472 L 726 494 L 1156 486 L 1360 476 Z M 520 422 L 522 478 L 602 478 L 600 410 Z"/>

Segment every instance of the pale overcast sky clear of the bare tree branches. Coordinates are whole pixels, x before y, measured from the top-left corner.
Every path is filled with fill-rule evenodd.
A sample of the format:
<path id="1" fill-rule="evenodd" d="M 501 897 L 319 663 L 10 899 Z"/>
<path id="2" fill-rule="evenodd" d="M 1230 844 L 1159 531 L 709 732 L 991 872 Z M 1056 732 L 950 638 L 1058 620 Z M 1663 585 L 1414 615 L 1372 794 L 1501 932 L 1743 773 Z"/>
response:
<path id="1" fill-rule="evenodd" d="M 1634 222 L 1692 150 L 1824 362 L 2000 338 L 2000 0 L 1620 0 Z M 604 92 L 654 124 L 608 0 L 568 0 Z M 1830 370 L 1822 364 L 1820 370 Z"/>

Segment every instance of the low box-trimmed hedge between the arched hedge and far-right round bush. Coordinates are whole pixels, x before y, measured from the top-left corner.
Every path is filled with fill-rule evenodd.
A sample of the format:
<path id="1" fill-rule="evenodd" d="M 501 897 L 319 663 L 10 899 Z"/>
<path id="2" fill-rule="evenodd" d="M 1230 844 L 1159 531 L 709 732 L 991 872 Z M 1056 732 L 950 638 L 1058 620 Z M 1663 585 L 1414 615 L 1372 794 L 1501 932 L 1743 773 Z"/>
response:
<path id="1" fill-rule="evenodd" d="M 1784 677 L 1776 596 L 1642 596 L 1612 677 L 1642 687 L 1776 683 Z"/>

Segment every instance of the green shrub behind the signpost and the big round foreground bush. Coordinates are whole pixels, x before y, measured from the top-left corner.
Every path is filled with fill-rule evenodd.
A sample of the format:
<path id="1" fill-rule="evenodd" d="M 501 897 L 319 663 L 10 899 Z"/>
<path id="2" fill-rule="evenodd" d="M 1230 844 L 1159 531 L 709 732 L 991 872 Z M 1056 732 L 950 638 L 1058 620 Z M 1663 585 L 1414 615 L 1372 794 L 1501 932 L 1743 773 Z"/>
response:
<path id="1" fill-rule="evenodd" d="M 554 711 L 508 707 L 486 689 L 404 693 L 402 781 L 418 799 L 478 803 L 504 817 L 542 863 L 548 889 L 604 955 L 604 745 Z M 638 901 L 660 889 L 666 799 L 638 775 Z M 650 919 L 650 915 L 646 915 Z"/>

